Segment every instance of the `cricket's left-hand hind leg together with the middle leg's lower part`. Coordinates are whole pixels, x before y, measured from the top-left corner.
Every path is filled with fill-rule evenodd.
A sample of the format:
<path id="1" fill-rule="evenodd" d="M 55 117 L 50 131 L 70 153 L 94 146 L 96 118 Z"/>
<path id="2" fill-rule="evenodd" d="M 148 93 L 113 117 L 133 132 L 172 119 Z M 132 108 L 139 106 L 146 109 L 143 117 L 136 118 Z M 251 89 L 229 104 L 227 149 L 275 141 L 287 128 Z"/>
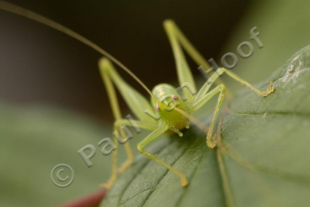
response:
<path id="1" fill-rule="evenodd" d="M 142 109 L 148 109 L 150 111 L 154 111 L 151 104 L 138 91 L 136 91 L 129 84 L 124 82 L 121 76 L 114 69 L 109 59 L 107 58 L 100 59 L 99 69 L 100 69 L 103 82 L 106 86 L 106 90 L 107 90 L 108 97 L 109 97 L 109 103 L 110 103 L 115 120 L 120 122 L 119 120 L 122 120 L 122 114 L 121 114 L 121 110 L 119 107 L 114 85 L 120 91 L 128 107 L 138 119 L 140 119 L 143 122 L 151 123 L 154 125 L 157 123 L 153 118 L 149 117 L 143 112 L 143 110 L 141 110 L 142 108 Z M 121 126 L 126 125 L 126 124 L 123 123 L 123 124 L 115 124 L 115 125 L 116 125 L 116 128 L 114 127 L 114 129 L 120 133 L 121 137 L 125 137 L 124 131 L 121 129 Z M 115 138 L 114 138 L 114 144 L 116 146 L 118 145 L 118 141 Z M 108 189 L 116 181 L 118 171 L 123 172 L 127 167 L 131 165 L 131 163 L 133 163 L 133 154 L 129 146 L 129 143 L 128 142 L 124 143 L 124 147 L 125 147 L 126 154 L 127 154 L 127 160 L 124 162 L 124 164 L 121 165 L 120 169 L 117 168 L 117 149 L 112 151 L 111 177 L 109 178 L 108 182 L 106 182 L 103 185 L 104 187 Z"/>

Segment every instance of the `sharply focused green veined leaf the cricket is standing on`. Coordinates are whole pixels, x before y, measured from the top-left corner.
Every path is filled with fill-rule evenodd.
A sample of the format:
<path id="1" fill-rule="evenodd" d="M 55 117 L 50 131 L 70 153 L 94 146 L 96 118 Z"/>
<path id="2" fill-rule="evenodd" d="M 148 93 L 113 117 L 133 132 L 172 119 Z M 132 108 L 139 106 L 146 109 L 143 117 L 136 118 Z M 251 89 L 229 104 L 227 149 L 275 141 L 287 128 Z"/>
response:
<path id="1" fill-rule="evenodd" d="M 221 127 L 222 147 L 207 148 L 199 130 L 186 130 L 148 150 L 186 173 L 139 157 L 109 190 L 102 206 L 291 207 L 310 205 L 310 46 L 289 59 L 273 80 L 274 93 L 242 90 Z"/>

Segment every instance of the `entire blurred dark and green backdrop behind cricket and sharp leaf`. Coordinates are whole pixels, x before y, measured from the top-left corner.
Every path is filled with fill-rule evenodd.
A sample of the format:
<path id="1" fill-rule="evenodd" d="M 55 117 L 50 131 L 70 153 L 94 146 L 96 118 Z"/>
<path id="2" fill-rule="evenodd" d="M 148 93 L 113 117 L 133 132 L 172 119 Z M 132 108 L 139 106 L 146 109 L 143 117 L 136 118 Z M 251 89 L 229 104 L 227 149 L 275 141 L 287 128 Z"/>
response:
<path id="1" fill-rule="evenodd" d="M 253 56 L 239 58 L 233 69 L 251 83 L 269 76 L 310 42 L 307 0 L 9 2 L 89 38 L 149 88 L 162 82 L 177 86 L 162 28 L 166 18 L 174 19 L 202 55 L 217 63 L 223 54 L 236 52 L 239 43 L 249 41 L 248 32 L 256 26 L 264 47 L 254 45 Z M 111 136 L 113 118 L 97 69 L 100 55 L 58 31 L 3 11 L 0 46 L 1 206 L 55 206 L 98 190 L 109 177 L 110 157 L 97 148 L 88 169 L 77 151 Z M 202 82 L 197 65 L 189 63 Z M 226 77 L 224 82 L 231 91 L 240 88 Z M 131 145 L 147 133 L 135 136 Z M 50 170 L 58 163 L 75 170 L 75 180 L 67 188 L 50 180 Z"/>

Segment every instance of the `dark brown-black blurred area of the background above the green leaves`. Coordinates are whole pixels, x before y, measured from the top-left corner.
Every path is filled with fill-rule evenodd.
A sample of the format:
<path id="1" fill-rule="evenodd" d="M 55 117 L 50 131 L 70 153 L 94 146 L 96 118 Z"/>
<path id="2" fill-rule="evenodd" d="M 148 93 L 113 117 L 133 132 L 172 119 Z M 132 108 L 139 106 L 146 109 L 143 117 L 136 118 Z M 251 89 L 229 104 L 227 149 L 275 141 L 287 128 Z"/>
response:
<path id="1" fill-rule="evenodd" d="M 158 83 L 177 83 L 164 19 L 174 19 L 204 57 L 216 58 L 222 55 L 219 52 L 249 1 L 9 2 L 45 15 L 102 46 L 152 89 Z M 97 68 L 99 58 L 100 54 L 59 31 L 0 11 L 1 102 L 56 105 L 112 120 Z M 189 63 L 193 73 L 200 75 L 197 66 Z M 120 73 L 147 96 L 131 77 Z"/>

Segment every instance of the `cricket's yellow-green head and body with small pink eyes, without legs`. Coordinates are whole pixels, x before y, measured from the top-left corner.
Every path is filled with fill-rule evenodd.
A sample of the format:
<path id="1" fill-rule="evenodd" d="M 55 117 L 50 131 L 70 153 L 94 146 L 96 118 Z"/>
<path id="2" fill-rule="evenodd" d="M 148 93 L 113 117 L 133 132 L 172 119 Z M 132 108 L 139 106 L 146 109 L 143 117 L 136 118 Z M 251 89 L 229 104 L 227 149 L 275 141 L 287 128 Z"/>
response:
<path id="1" fill-rule="evenodd" d="M 155 98 L 159 103 L 152 101 L 155 105 L 156 112 L 171 127 L 183 129 L 189 124 L 189 120 L 179 111 L 174 110 L 175 107 L 186 111 L 184 102 L 179 98 L 176 89 L 169 84 L 159 84 L 152 90 Z"/>

